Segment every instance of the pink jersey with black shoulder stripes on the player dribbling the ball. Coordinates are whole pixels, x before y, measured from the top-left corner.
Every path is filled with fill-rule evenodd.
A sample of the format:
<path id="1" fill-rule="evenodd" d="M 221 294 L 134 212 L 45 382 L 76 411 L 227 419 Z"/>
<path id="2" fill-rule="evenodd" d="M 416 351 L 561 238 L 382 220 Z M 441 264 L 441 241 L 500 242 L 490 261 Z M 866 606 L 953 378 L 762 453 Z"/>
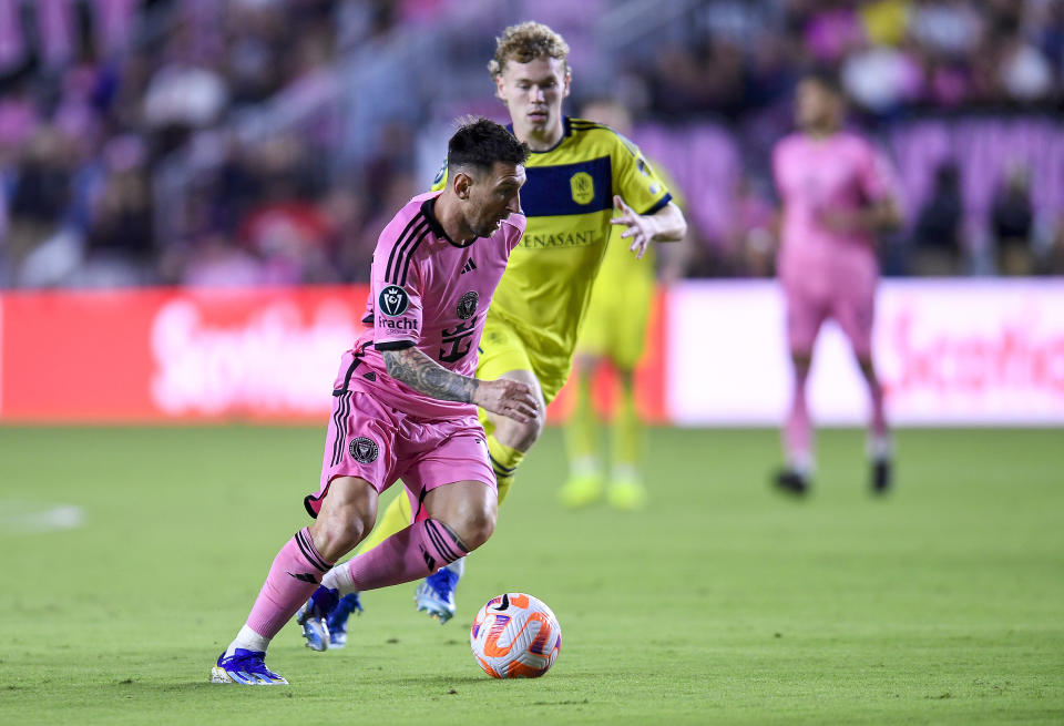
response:
<path id="1" fill-rule="evenodd" d="M 460 245 L 433 214 L 439 194 L 413 197 L 380 233 L 364 320 L 369 327 L 335 387 L 346 390 L 359 376 L 389 406 L 426 419 L 475 415 L 477 408 L 424 396 L 392 379 L 380 351 L 412 344 L 444 368 L 472 376 L 488 306 L 525 225 L 524 216 L 511 215 L 490 237 Z"/>

